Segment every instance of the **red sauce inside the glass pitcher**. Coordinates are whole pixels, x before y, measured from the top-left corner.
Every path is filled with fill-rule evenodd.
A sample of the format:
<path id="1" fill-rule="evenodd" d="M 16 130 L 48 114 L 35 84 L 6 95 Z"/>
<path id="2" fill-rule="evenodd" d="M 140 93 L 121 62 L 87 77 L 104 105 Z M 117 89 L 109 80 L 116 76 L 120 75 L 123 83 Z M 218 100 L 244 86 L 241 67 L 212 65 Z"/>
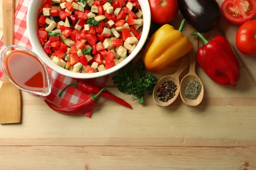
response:
<path id="1" fill-rule="evenodd" d="M 6 58 L 9 77 L 21 88 L 29 91 L 44 91 L 47 88 L 43 65 L 26 51 L 15 50 Z"/>

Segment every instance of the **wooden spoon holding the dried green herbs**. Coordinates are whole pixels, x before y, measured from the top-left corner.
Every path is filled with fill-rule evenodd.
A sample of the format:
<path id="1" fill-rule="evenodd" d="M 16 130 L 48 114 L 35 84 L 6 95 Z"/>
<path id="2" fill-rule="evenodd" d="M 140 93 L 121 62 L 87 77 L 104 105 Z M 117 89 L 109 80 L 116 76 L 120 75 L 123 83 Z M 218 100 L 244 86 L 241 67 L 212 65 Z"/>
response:
<path id="1" fill-rule="evenodd" d="M 203 97 L 204 97 L 204 85 L 203 85 L 201 79 L 199 79 L 199 77 L 195 74 L 196 52 L 198 50 L 198 38 L 194 38 L 191 36 L 193 31 L 195 31 L 195 29 L 192 28 L 192 26 L 189 26 L 188 38 L 193 44 L 193 49 L 188 54 L 189 55 L 189 63 L 190 63 L 189 64 L 189 73 L 180 82 L 181 99 L 186 105 L 189 105 L 189 106 L 199 105 L 202 102 Z M 199 94 L 198 98 L 194 99 L 194 100 L 187 99 L 184 94 L 184 87 L 185 87 L 186 83 L 193 79 L 198 80 L 202 85 L 201 93 Z"/>

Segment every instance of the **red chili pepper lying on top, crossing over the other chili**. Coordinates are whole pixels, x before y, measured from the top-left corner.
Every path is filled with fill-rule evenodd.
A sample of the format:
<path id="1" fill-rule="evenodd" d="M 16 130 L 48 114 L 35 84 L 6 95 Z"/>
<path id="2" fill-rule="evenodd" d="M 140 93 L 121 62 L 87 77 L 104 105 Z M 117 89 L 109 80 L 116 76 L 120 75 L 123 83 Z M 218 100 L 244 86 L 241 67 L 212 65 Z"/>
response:
<path id="1" fill-rule="evenodd" d="M 99 95 L 102 94 L 102 92 L 105 90 L 106 90 L 105 88 L 102 88 L 102 90 L 100 90 L 98 94 L 94 96 L 90 96 L 84 102 L 81 102 L 78 105 L 73 105 L 73 106 L 60 107 L 48 102 L 47 100 L 44 100 L 44 102 L 46 102 L 49 108 L 59 113 L 63 113 L 66 115 L 81 114 L 86 111 L 90 111 L 90 107 L 98 101 Z"/>

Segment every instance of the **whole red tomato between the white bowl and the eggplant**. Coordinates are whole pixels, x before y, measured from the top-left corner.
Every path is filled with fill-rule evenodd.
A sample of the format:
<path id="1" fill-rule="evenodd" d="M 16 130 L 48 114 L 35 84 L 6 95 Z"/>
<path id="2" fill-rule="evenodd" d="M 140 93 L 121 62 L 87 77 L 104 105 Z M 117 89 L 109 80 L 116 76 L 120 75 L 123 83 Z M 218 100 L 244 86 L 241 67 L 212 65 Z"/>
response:
<path id="1" fill-rule="evenodd" d="M 168 24 L 177 17 L 179 6 L 177 0 L 148 0 L 151 19 L 158 24 Z"/>

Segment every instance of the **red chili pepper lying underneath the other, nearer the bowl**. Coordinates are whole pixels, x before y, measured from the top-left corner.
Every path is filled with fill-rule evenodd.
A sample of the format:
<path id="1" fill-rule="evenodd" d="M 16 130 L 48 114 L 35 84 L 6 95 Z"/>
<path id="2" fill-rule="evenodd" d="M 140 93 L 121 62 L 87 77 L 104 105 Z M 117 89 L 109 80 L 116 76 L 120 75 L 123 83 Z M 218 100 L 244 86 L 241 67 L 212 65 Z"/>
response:
<path id="1" fill-rule="evenodd" d="M 61 96 L 61 94 L 70 86 L 75 86 L 75 88 L 78 89 L 79 91 L 83 91 L 84 93 L 91 93 L 91 94 L 97 94 L 101 90 L 101 88 L 99 86 L 94 85 L 94 84 L 92 84 L 90 82 L 86 82 L 86 81 L 82 81 L 82 80 L 77 80 L 76 82 L 72 82 L 69 85 L 67 85 L 67 87 L 65 87 L 61 91 L 59 96 Z M 108 98 L 108 99 L 113 100 L 114 102 L 119 103 L 120 105 L 123 105 L 123 106 L 131 109 L 131 105 L 129 105 L 123 99 L 120 99 L 119 97 L 111 94 L 108 91 L 104 91 L 101 95 L 106 97 L 106 98 Z"/>

